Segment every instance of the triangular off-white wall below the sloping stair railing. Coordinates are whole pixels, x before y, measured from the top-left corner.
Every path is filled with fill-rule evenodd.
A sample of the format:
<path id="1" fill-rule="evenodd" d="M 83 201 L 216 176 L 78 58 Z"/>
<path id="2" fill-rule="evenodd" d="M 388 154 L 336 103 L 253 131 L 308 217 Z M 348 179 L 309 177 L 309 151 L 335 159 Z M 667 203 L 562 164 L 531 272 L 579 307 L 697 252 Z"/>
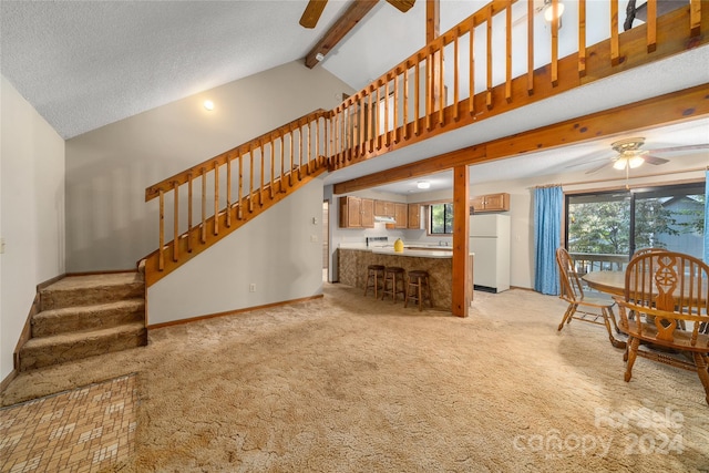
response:
<path id="1" fill-rule="evenodd" d="M 321 295 L 321 216 L 318 178 L 151 286 L 148 325 Z"/>

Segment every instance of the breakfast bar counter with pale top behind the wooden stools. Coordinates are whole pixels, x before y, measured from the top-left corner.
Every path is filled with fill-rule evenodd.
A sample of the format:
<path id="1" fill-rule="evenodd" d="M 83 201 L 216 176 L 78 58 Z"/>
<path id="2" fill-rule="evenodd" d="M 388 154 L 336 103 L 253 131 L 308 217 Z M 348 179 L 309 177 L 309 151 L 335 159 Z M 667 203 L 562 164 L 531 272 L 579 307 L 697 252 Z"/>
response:
<path id="1" fill-rule="evenodd" d="M 471 259 L 471 278 L 473 274 L 473 254 Z M 364 291 L 367 266 L 399 266 L 407 273 L 419 269 L 429 271 L 433 307 L 451 310 L 453 251 L 450 249 L 404 248 L 397 253 L 393 248 L 338 248 L 339 281 L 354 286 Z M 471 291 L 472 291 L 471 280 Z M 473 299 L 471 294 L 471 300 Z"/>

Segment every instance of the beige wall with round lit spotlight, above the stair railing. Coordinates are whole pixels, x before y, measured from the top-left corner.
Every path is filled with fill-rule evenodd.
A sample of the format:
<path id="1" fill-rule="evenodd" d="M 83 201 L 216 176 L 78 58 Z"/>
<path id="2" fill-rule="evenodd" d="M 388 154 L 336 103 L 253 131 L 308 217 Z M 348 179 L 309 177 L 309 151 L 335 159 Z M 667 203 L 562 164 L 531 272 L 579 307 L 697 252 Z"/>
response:
<path id="1" fill-rule="evenodd" d="M 145 188 L 316 109 L 348 85 L 322 68 L 280 65 L 66 142 L 66 270 L 135 268 L 157 248 Z M 215 103 L 207 112 L 204 100 Z"/>

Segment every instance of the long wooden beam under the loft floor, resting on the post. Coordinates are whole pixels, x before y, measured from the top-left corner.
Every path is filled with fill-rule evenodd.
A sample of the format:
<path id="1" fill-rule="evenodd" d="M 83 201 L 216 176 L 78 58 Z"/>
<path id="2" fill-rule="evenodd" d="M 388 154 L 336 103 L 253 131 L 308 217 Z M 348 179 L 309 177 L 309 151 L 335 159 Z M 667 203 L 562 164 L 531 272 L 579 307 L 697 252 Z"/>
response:
<path id="1" fill-rule="evenodd" d="M 709 116 L 709 84 L 671 92 L 345 181 L 335 184 L 332 193 L 347 194 L 398 181 L 423 177 L 464 164 L 482 164 L 706 116 Z"/>

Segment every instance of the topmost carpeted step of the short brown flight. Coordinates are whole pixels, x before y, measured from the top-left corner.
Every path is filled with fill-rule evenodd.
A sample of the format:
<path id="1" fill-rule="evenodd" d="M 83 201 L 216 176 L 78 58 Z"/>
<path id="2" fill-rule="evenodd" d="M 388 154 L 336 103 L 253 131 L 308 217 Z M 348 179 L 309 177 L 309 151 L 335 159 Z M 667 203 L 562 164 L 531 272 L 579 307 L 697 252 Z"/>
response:
<path id="1" fill-rule="evenodd" d="M 138 271 L 68 276 L 40 290 L 42 311 L 144 297 L 145 281 Z"/>

